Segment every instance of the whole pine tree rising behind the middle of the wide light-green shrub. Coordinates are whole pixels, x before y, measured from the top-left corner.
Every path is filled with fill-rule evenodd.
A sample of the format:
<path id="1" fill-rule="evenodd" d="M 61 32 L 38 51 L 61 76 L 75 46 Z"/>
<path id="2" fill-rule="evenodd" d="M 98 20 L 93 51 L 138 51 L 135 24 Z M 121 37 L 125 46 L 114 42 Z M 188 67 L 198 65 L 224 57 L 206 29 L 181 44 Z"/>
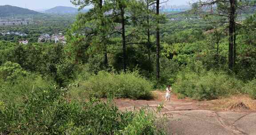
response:
<path id="1" fill-rule="evenodd" d="M 122 50 L 123 50 L 123 70 L 127 70 L 128 65 L 128 56 L 127 56 L 127 45 L 132 44 L 143 44 L 135 42 L 134 38 L 139 30 L 135 28 L 127 30 L 129 25 L 135 26 L 138 22 L 137 13 L 133 9 L 139 7 L 134 7 L 138 4 L 137 0 L 106 0 L 106 3 L 110 5 L 109 12 L 112 12 L 109 15 L 109 18 L 112 18 L 112 22 L 115 25 L 115 29 L 112 33 L 119 33 L 122 39 Z"/>

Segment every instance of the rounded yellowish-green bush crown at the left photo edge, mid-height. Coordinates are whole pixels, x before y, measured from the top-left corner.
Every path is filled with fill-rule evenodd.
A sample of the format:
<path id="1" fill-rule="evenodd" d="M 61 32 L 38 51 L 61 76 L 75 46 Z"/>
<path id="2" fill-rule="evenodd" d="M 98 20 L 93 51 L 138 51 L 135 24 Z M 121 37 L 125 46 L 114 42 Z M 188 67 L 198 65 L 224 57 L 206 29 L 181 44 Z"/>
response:
<path id="1" fill-rule="evenodd" d="M 0 66 L 0 79 L 5 81 L 14 82 L 18 77 L 26 75 L 28 75 L 28 73 L 17 63 L 7 61 Z"/>

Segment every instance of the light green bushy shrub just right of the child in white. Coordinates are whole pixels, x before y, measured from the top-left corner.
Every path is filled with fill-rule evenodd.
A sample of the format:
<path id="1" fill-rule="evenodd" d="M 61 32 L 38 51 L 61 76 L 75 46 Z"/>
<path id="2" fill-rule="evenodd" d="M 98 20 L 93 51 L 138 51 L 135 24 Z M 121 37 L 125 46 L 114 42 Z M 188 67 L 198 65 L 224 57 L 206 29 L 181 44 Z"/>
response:
<path id="1" fill-rule="evenodd" d="M 211 100 L 219 96 L 244 93 L 244 83 L 223 72 L 190 71 L 185 69 L 177 75 L 173 89 L 176 93 L 192 99 Z"/>

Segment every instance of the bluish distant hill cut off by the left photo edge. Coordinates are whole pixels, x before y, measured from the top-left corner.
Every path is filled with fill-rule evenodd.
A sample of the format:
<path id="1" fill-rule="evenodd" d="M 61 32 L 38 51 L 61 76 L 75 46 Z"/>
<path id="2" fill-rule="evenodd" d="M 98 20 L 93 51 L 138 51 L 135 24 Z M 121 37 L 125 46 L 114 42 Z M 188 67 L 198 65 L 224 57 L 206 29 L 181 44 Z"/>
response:
<path id="1" fill-rule="evenodd" d="M 20 16 L 20 15 L 39 15 L 40 12 L 29 10 L 27 8 L 20 8 L 11 5 L 0 6 L 0 17 Z"/>

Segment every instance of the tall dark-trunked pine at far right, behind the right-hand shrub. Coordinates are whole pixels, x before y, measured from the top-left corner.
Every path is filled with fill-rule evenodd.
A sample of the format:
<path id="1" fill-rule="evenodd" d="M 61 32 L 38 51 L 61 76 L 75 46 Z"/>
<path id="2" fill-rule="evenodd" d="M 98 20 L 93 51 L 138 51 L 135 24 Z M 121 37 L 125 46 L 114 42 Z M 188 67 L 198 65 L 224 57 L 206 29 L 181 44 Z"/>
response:
<path id="1" fill-rule="evenodd" d="M 236 17 L 240 11 L 255 6 L 254 3 L 247 0 L 201 0 L 198 4 L 201 9 L 210 10 L 209 15 L 228 19 L 228 67 L 230 70 L 234 70 L 236 64 Z"/>

